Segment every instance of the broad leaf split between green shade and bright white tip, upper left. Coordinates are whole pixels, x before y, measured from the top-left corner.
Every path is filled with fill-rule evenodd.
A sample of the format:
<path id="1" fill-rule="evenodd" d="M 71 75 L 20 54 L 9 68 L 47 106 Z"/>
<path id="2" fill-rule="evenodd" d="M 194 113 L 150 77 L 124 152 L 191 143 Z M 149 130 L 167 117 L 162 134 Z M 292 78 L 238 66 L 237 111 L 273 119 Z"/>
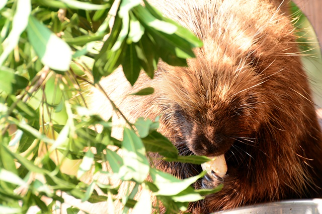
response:
<path id="1" fill-rule="evenodd" d="M 30 16 L 27 26 L 28 39 L 44 65 L 57 71 L 69 69 L 70 47 L 37 19 Z"/>

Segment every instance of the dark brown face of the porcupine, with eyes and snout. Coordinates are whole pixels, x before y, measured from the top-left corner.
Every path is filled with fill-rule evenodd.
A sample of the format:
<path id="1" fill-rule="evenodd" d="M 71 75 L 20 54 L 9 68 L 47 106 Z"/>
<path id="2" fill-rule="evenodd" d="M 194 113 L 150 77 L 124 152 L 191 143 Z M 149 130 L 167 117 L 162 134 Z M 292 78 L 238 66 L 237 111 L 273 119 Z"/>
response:
<path id="1" fill-rule="evenodd" d="M 196 155 L 224 154 L 236 140 L 247 138 L 254 130 L 254 109 L 258 105 L 255 96 L 213 102 L 198 110 L 175 106 L 173 121 L 178 135 Z"/>

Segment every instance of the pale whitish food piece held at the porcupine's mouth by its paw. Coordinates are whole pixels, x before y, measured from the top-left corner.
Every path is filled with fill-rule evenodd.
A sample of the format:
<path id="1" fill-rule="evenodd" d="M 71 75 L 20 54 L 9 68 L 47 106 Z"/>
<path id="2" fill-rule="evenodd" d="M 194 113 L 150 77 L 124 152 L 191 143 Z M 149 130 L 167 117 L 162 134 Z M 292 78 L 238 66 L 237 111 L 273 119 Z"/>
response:
<path id="1" fill-rule="evenodd" d="M 227 164 L 225 155 L 219 155 L 216 157 L 209 157 L 213 160 L 201 164 L 202 170 L 206 170 L 211 175 L 211 170 L 217 173 L 219 177 L 223 177 L 227 172 Z"/>

